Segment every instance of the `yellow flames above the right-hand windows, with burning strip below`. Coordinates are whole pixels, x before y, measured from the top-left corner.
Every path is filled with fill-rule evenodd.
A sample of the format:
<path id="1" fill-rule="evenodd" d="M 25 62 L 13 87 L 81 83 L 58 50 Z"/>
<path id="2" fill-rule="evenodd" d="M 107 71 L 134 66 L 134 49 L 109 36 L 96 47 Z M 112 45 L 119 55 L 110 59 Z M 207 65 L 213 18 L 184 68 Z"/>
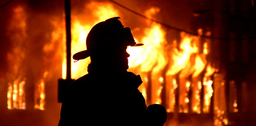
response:
<path id="1" fill-rule="evenodd" d="M 200 31 L 200 30 L 199 30 Z M 169 69 L 166 72 L 166 76 L 174 76 L 178 72 L 180 78 L 180 100 L 179 100 L 179 112 L 188 112 L 188 102 L 190 100 L 187 97 L 188 91 L 190 90 L 190 82 L 187 81 L 186 77 L 193 74 L 192 77 L 197 77 L 206 64 L 206 60 L 204 60 L 204 56 L 200 56 L 198 53 L 198 45 L 199 45 L 198 36 L 189 36 L 185 32 L 181 32 L 181 43 L 180 50 L 176 47 L 177 41 L 173 42 L 173 49 L 171 49 L 170 59 L 171 64 Z M 195 56 L 193 55 L 195 54 Z M 192 59 L 195 59 L 194 62 Z M 195 95 L 198 96 L 198 95 Z M 199 102 L 200 103 L 200 102 Z M 199 104 L 198 100 L 196 104 Z M 196 105 L 194 109 L 197 109 Z"/>

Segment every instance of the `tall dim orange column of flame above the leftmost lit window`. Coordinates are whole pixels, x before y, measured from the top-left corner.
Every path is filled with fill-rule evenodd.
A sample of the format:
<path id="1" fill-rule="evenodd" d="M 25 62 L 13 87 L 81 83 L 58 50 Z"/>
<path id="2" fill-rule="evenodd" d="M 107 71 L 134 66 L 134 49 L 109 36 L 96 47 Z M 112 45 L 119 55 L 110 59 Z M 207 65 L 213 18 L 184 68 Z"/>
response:
<path id="1" fill-rule="evenodd" d="M 22 63 L 25 59 L 25 50 L 22 48 L 22 43 L 25 42 L 27 38 L 27 15 L 21 6 L 14 8 L 13 12 L 14 14 L 8 29 L 8 34 L 14 44 L 14 48 L 7 54 L 7 61 L 10 65 L 7 107 L 8 109 L 26 109 L 24 92 L 25 77 L 23 77 L 24 69 Z"/>

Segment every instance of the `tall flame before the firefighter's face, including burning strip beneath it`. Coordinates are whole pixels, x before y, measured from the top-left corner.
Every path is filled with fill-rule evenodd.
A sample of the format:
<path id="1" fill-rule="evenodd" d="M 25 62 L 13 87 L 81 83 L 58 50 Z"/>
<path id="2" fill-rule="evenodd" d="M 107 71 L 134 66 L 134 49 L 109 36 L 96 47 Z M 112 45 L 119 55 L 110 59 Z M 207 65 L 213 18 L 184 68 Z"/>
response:
<path id="1" fill-rule="evenodd" d="M 145 12 L 145 15 L 152 17 L 153 14 L 159 12 L 159 8 L 151 8 Z M 127 52 L 131 55 L 129 60 L 130 70 L 133 68 L 139 68 L 139 71 L 136 71 L 141 74 L 141 76 L 147 76 L 147 74 L 152 70 L 152 87 L 151 87 L 151 103 L 152 104 L 161 104 L 161 92 L 162 84 L 164 83 L 164 78 L 161 76 L 161 72 L 164 67 L 167 65 L 167 55 L 163 49 L 164 45 L 167 44 L 165 39 L 166 32 L 161 28 L 160 24 L 155 22 L 147 22 L 149 28 L 144 30 L 145 36 L 142 37 L 140 43 L 144 43 L 143 46 L 133 48 L 129 47 Z M 139 87 L 142 91 L 142 94 L 147 86 L 148 81 L 142 78 L 143 83 Z M 146 95 L 143 95 L 146 97 Z"/>

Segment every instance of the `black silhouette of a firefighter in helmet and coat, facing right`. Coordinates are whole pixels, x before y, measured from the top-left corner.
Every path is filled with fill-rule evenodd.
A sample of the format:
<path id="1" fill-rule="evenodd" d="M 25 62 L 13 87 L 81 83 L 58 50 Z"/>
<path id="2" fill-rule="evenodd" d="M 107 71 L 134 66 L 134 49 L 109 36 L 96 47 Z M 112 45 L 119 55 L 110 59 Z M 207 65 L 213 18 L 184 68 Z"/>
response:
<path id="1" fill-rule="evenodd" d="M 130 28 L 119 17 L 96 24 L 86 39 L 87 50 L 73 55 L 81 60 L 90 56 L 88 74 L 69 85 L 61 108 L 59 126 L 162 126 L 166 110 L 161 105 L 146 106 L 137 89 L 140 75 L 127 72 L 127 46 L 136 44 Z"/>

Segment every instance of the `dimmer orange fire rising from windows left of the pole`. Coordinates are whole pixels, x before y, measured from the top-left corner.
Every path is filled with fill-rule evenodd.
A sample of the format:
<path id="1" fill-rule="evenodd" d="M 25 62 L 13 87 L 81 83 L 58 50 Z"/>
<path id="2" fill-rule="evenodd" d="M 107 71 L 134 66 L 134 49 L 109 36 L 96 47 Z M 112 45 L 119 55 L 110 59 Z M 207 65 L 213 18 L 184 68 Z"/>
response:
<path id="1" fill-rule="evenodd" d="M 40 41 L 36 42 L 38 44 L 36 49 L 38 50 L 31 49 L 29 45 L 35 43 L 31 41 L 34 40 L 34 35 L 36 37 L 42 37 L 43 35 L 41 31 L 36 30 L 33 31 L 34 35 L 27 35 L 30 24 L 27 24 L 28 14 L 25 7 L 16 6 L 13 9 L 13 16 L 8 28 L 8 35 L 13 48 L 7 54 L 7 61 L 10 65 L 7 74 L 7 107 L 8 109 L 26 109 L 25 87 L 31 86 L 34 87 L 34 94 L 32 94 L 34 95 L 34 108 L 43 110 L 46 98 L 45 82 L 48 75 L 52 75 L 54 71 L 52 67 L 56 68 L 54 62 L 55 59 L 58 60 L 58 46 L 62 45 L 59 42 L 62 42 L 63 30 L 61 24 L 58 24 L 59 20 L 51 17 L 49 22 L 55 30 L 44 36 L 45 38 L 51 38 L 51 40 L 44 42 L 43 46 L 40 45 Z M 36 53 L 31 53 L 32 50 Z M 40 51 L 42 51 L 42 57 L 38 56 Z M 33 60 L 31 60 L 31 57 Z M 40 64 L 37 64 L 37 61 L 40 61 Z M 40 68 L 33 67 L 31 70 L 32 66 L 40 66 Z"/>

